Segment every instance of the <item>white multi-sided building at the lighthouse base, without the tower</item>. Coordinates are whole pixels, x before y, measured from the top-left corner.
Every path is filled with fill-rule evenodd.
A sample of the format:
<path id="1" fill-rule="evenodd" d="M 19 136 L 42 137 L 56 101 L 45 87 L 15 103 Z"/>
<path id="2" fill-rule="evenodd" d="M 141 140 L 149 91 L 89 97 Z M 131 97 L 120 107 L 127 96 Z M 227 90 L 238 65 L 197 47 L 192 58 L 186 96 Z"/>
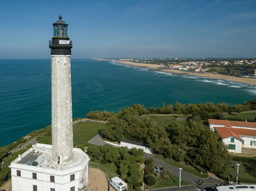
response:
<path id="1" fill-rule="evenodd" d="M 89 185 L 89 156 L 73 149 L 68 165 L 52 161 L 52 145 L 36 144 L 10 163 L 13 191 L 77 191 Z"/>

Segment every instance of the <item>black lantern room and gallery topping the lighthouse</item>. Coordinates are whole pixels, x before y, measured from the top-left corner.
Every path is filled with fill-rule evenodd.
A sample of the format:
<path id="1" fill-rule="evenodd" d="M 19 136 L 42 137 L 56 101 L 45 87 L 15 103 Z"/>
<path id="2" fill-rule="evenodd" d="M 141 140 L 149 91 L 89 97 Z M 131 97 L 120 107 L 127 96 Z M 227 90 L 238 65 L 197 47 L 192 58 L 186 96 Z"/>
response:
<path id="1" fill-rule="evenodd" d="M 59 21 L 53 25 L 54 37 L 49 42 L 52 55 L 71 55 L 72 41 L 68 38 L 68 24 L 63 22 L 61 15 Z"/>

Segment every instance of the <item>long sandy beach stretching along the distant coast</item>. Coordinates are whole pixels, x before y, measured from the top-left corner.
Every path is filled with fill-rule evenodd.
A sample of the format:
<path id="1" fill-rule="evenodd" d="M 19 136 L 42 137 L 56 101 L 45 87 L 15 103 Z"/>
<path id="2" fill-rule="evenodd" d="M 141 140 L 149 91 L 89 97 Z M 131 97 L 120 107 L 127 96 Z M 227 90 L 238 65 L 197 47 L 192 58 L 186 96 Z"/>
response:
<path id="1" fill-rule="evenodd" d="M 163 68 L 161 65 L 152 65 L 152 64 L 144 64 L 144 63 L 133 63 L 130 61 L 123 61 L 123 60 L 109 60 L 109 59 L 97 59 L 97 60 L 105 60 L 105 61 L 114 61 L 116 63 L 121 63 L 123 65 L 134 65 L 137 67 L 147 67 L 149 69 L 154 69 L 162 72 L 170 72 L 173 74 L 183 74 L 183 75 L 190 75 L 190 76 L 200 76 L 205 78 L 216 78 L 220 80 L 226 81 L 234 81 L 238 83 L 246 83 L 250 85 L 256 86 L 256 78 L 240 78 L 235 76 L 224 76 L 221 74 L 206 74 L 206 73 L 195 73 L 195 72 L 184 72 L 176 69 L 167 69 Z"/>

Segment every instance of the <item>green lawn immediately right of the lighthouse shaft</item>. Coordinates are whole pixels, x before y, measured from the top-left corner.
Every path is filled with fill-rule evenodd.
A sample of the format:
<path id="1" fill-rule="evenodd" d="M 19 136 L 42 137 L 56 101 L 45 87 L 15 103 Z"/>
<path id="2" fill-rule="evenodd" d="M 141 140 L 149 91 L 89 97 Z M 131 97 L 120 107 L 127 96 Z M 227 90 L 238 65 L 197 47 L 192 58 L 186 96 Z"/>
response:
<path id="1" fill-rule="evenodd" d="M 98 122 L 83 122 L 74 124 L 74 147 L 79 144 L 84 145 L 84 147 L 88 147 L 90 144 L 87 142 L 98 134 L 98 130 L 103 125 L 105 124 L 101 124 Z"/>

